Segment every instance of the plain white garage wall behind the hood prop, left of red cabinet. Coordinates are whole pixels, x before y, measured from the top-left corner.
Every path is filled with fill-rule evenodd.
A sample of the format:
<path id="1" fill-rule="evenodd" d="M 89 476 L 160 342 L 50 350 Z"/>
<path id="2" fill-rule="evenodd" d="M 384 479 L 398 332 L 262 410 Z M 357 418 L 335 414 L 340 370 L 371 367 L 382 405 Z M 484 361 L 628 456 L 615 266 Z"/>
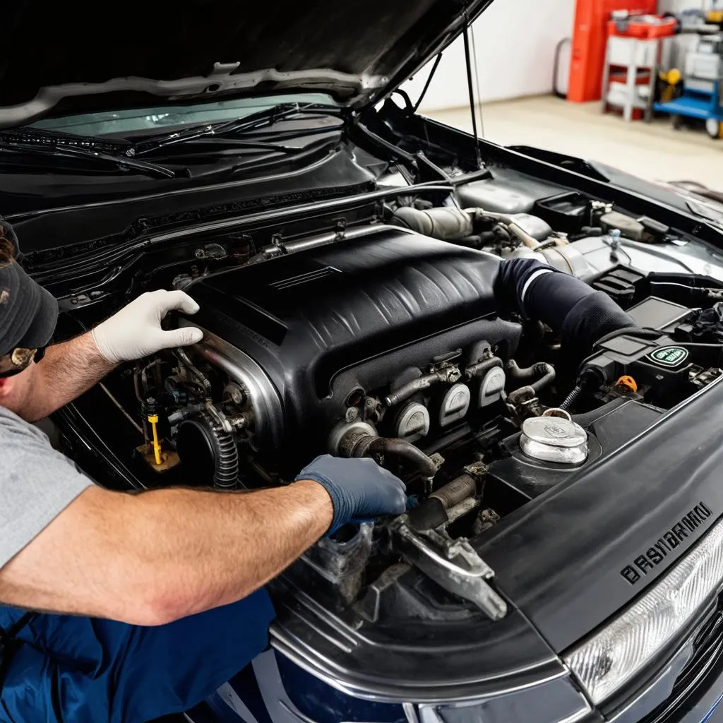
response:
<path id="1" fill-rule="evenodd" d="M 481 100 L 551 92 L 555 46 L 570 37 L 574 14 L 575 0 L 495 0 L 474 24 Z M 428 72 L 429 67 L 403 85 L 412 100 Z M 468 98 L 458 38 L 445 51 L 422 110 L 466 106 Z"/>

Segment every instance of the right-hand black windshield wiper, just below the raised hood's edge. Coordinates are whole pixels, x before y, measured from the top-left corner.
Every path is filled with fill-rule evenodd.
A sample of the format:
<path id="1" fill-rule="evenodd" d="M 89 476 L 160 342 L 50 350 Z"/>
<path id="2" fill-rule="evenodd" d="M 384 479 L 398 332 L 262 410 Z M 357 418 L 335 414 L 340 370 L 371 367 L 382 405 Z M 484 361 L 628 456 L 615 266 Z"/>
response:
<path id="1" fill-rule="evenodd" d="M 231 121 L 222 121 L 220 123 L 204 124 L 202 126 L 194 126 L 192 128 L 176 131 L 174 133 L 168 133 L 165 135 L 158 135 L 152 138 L 146 138 L 145 140 L 139 141 L 127 148 L 124 153 L 127 156 L 137 156 L 144 153 L 151 153 L 158 148 L 163 148 L 169 145 L 176 145 L 176 143 L 185 143 L 197 138 L 203 138 L 208 136 L 228 135 L 228 134 L 242 134 L 248 131 L 252 131 L 264 126 L 271 126 L 277 121 L 288 118 L 289 116 L 301 115 L 301 114 L 319 114 L 319 115 L 339 115 L 339 108 L 334 106 L 319 106 L 313 103 L 301 106 L 299 103 L 280 103 L 278 106 L 272 108 L 265 108 L 257 113 L 243 116 L 242 118 L 236 118 Z M 290 137 L 301 137 L 304 135 L 311 135 L 317 133 L 330 133 L 338 128 L 309 128 L 299 129 L 295 132 L 288 132 L 284 134 L 284 138 Z M 252 141 L 239 141 L 239 145 L 248 145 L 248 147 L 266 147 L 273 150 L 283 150 L 291 153 L 299 150 L 291 146 L 283 146 L 274 142 L 264 143 L 263 146 L 255 145 L 256 142 Z"/>

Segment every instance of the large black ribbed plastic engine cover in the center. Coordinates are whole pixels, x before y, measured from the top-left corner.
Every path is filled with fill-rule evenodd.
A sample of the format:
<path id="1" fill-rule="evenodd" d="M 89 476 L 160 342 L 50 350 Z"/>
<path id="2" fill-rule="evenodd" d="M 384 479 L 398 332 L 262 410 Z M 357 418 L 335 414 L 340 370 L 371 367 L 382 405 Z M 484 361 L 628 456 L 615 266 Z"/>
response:
<path id="1" fill-rule="evenodd" d="M 455 349 L 476 361 L 485 341 L 514 350 L 519 326 L 495 315 L 499 264 L 385 227 L 195 281 L 187 292 L 201 310 L 190 321 L 265 369 L 283 407 L 285 455 L 303 445 L 308 457 L 325 451 L 354 388 L 380 388 Z"/>

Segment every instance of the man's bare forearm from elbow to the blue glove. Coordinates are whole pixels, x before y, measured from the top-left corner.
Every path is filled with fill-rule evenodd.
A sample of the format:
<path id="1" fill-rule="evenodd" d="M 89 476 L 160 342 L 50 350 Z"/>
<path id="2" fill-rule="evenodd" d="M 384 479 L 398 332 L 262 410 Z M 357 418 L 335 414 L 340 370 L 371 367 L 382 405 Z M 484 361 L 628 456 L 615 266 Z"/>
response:
<path id="1" fill-rule="evenodd" d="M 247 493 L 158 490 L 138 502 L 129 549 L 145 549 L 142 562 L 158 576 L 157 607 L 171 619 L 250 594 L 316 542 L 333 516 L 328 493 L 309 480 Z"/>

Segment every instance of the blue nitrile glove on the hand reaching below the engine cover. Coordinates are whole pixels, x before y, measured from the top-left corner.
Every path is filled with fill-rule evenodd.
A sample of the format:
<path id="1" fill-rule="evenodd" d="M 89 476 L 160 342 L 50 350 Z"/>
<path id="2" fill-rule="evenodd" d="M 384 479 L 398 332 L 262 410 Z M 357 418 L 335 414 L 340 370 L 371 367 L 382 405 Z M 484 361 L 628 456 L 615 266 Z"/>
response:
<path id="1" fill-rule="evenodd" d="M 296 479 L 313 479 L 329 493 L 334 516 L 327 535 L 349 522 L 401 515 L 406 510 L 404 483 L 373 459 L 325 454 L 304 467 Z"/>

